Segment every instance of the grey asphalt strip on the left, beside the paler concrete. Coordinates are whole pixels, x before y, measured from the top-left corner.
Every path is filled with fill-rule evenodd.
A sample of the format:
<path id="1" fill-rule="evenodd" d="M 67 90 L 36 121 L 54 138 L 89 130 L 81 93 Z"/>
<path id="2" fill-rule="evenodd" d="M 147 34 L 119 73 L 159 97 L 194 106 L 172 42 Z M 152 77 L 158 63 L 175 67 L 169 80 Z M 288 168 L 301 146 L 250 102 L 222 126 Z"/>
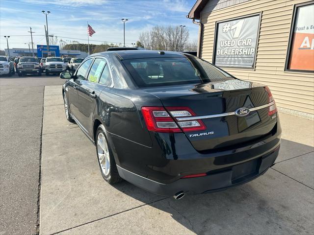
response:
<path id="1" fill-rule="evenodd" d="M 0 77 L 0 235 L 38 232 L 44 86 L 56 76 Z"/>

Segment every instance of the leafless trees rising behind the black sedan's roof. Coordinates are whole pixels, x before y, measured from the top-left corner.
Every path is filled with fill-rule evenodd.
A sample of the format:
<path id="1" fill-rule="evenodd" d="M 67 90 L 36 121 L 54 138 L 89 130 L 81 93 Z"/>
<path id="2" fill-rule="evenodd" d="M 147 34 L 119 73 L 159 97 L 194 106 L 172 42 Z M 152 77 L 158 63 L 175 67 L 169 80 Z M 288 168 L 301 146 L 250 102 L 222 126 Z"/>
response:
<path id="1" fill-rule="evenodd" d="M 188 29 L 182 29 L 182 48 L 186 47 L 188 41 Z M 146 49 L 180 51 L 181 28 L 180 26 L 157 25 L 151 31 L 141 32 L 139 41 Z"/>

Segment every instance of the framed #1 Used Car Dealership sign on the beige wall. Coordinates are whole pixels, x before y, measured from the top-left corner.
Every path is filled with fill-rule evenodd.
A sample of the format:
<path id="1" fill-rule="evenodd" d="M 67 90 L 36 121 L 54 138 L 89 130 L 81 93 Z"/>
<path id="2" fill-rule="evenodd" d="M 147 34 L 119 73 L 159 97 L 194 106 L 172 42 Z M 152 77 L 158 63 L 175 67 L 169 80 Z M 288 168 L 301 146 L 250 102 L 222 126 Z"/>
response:
<path id="1" fill-rule="evenodd" d="M 253 68 L 260 15 L 217 23 L 214 64 Z"/>

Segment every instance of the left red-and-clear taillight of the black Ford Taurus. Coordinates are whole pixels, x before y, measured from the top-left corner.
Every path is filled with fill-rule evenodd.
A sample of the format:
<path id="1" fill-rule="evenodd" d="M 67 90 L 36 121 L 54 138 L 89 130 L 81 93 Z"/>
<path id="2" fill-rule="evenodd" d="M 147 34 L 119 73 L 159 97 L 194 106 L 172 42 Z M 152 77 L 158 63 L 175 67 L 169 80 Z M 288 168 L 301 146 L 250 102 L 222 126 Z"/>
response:
<path id="1" fill-rule="evenodd" d="M 148 130 L 175 133 L 206 129 L 206 126 L 201 120 L 178 122 L 174 120 L 174 118 L 179 117 L 195 116 L 191 109 L 187 107 L 167 107 L 166 109 L 163 107 L 142 107 L 142 114 Z"/>

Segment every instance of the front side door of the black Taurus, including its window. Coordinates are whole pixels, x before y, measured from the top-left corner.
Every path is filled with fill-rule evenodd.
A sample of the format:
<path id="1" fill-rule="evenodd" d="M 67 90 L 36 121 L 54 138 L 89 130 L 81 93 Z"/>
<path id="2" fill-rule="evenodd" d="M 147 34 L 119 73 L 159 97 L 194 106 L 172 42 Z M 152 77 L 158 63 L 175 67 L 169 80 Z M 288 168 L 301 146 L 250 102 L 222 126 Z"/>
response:
<path id="1" fill-rule="evenodd" d="M 93 61 L 93 58 L 90 58 L 78 68 L 77 72 L 74 74 L 74 78 L 70 80 L 68 85 L 68 101 L 71 115 L 74 116 L 76 121 L 79 120 L 79 102 L 78 102 L 78 92 L 77 89 L 81 85 L 82 81 L 86 80 L 87 71 Z M 80 123 L 78 123 L 80 125 Z"/>

